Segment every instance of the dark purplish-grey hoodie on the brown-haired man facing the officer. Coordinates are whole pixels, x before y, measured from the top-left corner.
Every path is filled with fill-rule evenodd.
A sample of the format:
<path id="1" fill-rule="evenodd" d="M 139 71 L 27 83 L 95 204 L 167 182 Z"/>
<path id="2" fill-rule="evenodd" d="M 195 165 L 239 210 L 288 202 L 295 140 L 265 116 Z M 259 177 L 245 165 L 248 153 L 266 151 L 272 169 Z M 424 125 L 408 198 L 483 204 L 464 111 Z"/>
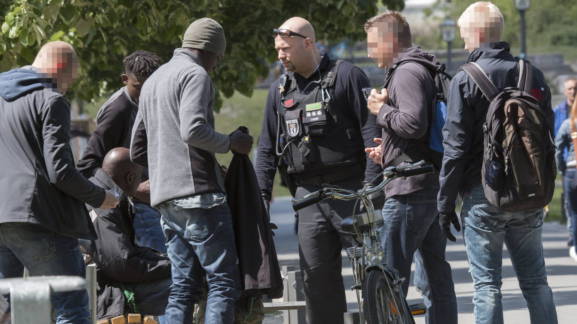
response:
<path id="1" fill-rule="evenodd" d="M 407 148 L 429 146 L 429 114 L 434 100 L 433 73 L 441 64 L 437 58 L 419 46 L 411 47 L 399 62 L 387 87 L 389 104 L 381 106 L 377 125 L 383 129 L 383 165 L 391 163 Z M 388 76 L 387 76 L 388 77 Z M 422 144 L 419 144 L 422 142 Z M 427 159 L 424 155 L 419 159 Z M 404 165 L 408 163 L 401 163 Z M 430 164 L 430 163 L 428 163 Z M 439 182 L 439 173 L 399 178 L 385 187 L 387 197 L 410 194 Z"/>

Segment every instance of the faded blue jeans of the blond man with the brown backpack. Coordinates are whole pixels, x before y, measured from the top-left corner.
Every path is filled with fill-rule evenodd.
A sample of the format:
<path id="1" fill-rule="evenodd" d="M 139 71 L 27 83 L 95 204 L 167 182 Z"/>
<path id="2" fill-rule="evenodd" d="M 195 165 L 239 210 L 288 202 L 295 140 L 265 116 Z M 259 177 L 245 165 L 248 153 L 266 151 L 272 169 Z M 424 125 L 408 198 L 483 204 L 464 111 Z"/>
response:
<path id="1" fill-rule="evenodd" d="M 464 192 L 462 197 L 463 239 L 475 288 L 475 322 L 503 323 L 501 268 L 505 243 L 531 323 L 557 323 L 541 242 L 543 210 L 503 212 L 490 204 L 481 186 Z"/>

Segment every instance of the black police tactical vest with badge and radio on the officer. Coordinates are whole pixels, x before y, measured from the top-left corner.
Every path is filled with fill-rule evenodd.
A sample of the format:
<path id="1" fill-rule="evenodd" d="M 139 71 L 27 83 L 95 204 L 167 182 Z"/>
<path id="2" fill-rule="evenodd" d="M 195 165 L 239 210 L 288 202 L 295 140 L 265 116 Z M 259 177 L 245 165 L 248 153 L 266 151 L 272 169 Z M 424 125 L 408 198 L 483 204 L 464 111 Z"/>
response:
<path id="1" fill-rule="evenodd" d="M 292 72 L 279 78 L 279 112 L 284 160 L 289 174 L 310 176 L 335 172 L 366 160 L 364 142 L 354 112 L 343 109 L 330 98 L 335 93 L 336 71 L 341 60 L 331 60 L 321 73 L 321 81 L 312 81 L 299 89 Z M 324 91 L 323 91 L 324 89 Z"/>

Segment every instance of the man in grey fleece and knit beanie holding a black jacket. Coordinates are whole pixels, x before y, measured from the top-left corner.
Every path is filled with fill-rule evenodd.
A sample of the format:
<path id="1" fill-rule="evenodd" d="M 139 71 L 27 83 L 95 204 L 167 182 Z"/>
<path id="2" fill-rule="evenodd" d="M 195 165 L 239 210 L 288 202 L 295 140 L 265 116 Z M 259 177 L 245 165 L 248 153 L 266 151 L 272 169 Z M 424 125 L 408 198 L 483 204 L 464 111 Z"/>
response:
<path id="1" fill-rule="evenodd" d="M 214 130 L 215 89 L 208 74 L 222 58 L 226 40 L 209 18 L 194 21 L 182 48 L 144 83 L 130 156 L 148 167 L 151 205 L 160 210 L 172 261 L 173 288 L 167 323 L 190 323 L 208 281 L 207 323 L 232 323 L 241 295 L 233 222 L 214 153 L 248 154 L 253 138 Z"/>

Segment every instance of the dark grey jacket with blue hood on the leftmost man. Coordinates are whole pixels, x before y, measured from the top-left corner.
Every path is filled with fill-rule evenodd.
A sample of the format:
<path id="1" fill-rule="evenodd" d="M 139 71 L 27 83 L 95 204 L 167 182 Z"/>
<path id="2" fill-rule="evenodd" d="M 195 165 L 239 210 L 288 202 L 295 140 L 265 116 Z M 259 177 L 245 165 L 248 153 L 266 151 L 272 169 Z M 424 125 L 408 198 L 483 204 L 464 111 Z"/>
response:
<path id="1" fill-rule="evenodd" d="M 68 101 L 31 66 L 0 74 L 0 97 L 0 223 L 96 238 L 83 203 L 98 207 L 105 194 L 74 168 Z"/>

